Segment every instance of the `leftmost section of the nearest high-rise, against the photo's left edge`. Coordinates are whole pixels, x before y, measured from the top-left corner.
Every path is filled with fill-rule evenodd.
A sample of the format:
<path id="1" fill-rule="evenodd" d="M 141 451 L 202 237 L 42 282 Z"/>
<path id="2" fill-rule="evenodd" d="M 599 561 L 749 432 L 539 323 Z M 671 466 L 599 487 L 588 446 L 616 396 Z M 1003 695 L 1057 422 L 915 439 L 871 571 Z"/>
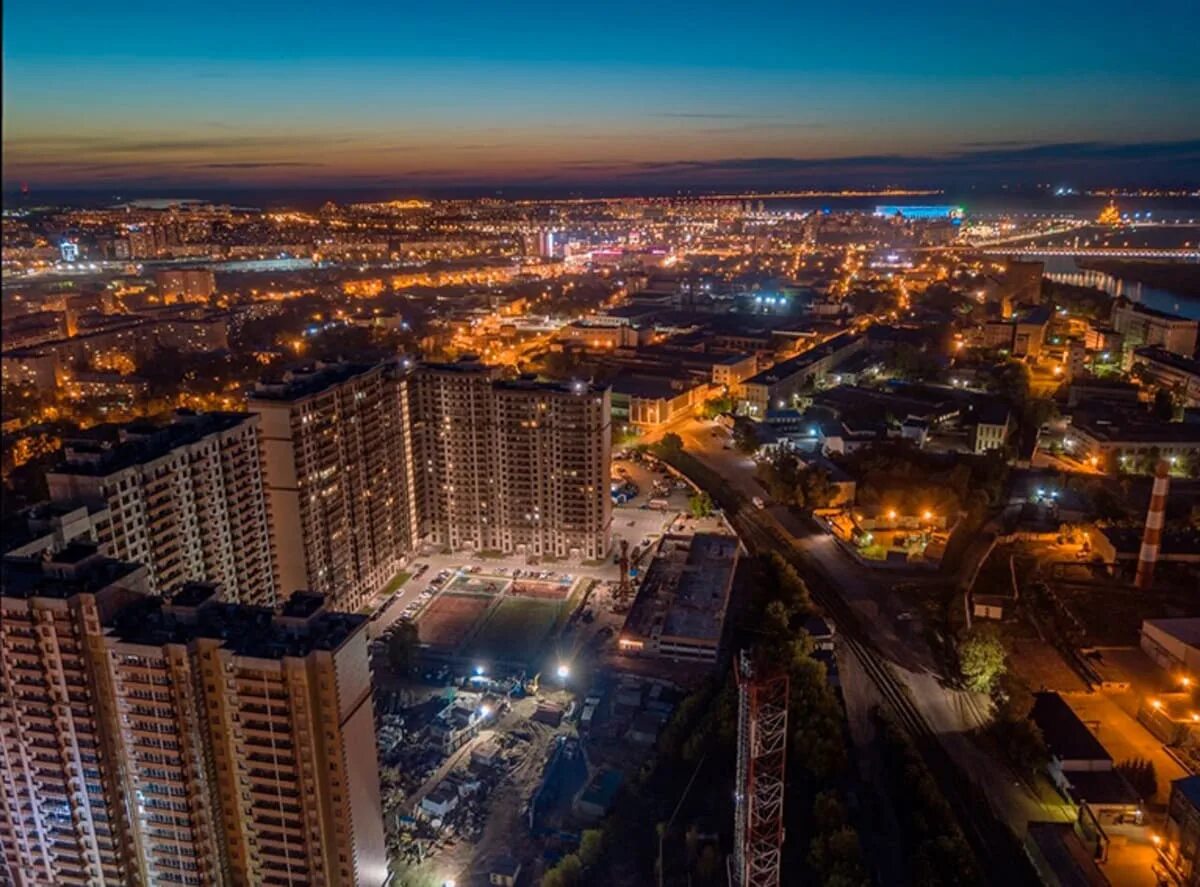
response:
<path id="1" fill-rule="evenodd" d="M 68 545 L 0 567 L 0 852 L 8 883 L 136 883 L 91 654 L 145 568 Z M 0 870 L 0 875 L 5 874 Z M 0 877 L 0 881 L 5 881 Z"/>

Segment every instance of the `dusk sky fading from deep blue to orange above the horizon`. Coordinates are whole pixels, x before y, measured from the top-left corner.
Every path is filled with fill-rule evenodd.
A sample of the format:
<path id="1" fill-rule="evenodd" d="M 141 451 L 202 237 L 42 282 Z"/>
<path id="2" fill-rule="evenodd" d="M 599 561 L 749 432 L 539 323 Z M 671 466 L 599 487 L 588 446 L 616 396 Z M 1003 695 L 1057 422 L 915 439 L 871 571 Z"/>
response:
<path id="1" fill-rule="evenodd" d="M 1200 182 L 1184 0 L 7 0 L 4 25 L 6 188 Z"/>

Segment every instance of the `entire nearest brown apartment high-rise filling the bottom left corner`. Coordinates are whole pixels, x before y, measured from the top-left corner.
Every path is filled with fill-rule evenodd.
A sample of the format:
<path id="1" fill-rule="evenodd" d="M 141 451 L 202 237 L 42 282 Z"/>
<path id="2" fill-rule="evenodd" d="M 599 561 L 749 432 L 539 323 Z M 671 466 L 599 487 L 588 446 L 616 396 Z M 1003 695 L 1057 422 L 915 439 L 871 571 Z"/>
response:
<path id="1" fill-rule="evenodd" d="M 0 844 L 17 885 L 386 880 L 365 617 L 72 545 L 8 559 Z"/>

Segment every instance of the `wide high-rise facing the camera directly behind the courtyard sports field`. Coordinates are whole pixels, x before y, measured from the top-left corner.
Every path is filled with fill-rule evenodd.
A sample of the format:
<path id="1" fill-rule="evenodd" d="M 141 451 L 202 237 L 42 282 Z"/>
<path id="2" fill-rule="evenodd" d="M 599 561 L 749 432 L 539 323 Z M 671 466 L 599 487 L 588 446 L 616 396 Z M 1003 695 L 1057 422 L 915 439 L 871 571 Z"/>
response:
<path id="1" fill-rule="evenodd" d="M 451 549 L 605 557 L 607 388 L 500 379 L 474 361 L 404 379 L 422 538 Z"/>

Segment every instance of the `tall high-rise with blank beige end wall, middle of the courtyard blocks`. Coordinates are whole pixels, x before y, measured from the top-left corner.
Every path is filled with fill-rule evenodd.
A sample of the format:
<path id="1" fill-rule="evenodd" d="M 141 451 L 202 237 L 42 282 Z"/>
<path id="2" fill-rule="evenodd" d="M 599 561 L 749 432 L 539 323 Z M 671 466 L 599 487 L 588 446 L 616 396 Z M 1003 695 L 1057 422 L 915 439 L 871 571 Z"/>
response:
<path id="1" fill-rule="evenodd" d="M 398 367 L 318 364 L 259 384 L 263 473 L 284 593 L 358 610 L 415 544 L 408 404 Z"/>

